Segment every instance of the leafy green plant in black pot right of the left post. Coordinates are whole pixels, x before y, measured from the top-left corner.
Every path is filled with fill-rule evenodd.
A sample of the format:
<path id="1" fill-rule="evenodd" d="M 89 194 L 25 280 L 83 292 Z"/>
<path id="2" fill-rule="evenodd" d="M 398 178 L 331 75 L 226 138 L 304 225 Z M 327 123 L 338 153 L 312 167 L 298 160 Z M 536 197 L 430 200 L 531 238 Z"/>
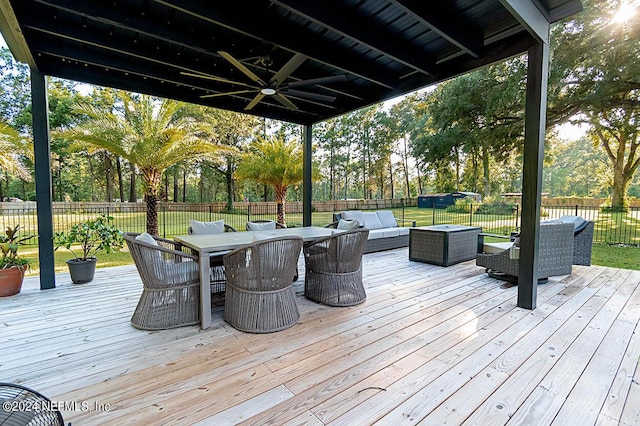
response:
<path id="1" fill-rule="evenodd" d="M 64 247 L 74 256 L 66 261 L 74 284 L 93 280 L 98 252 L 110 253 L 111 250 L 122 248 L 124 240 L 112 221 L 113 217 L 102 214 L 95 219 L 72 225 L 69 232 L 60 231 L 53 236 L 56 250 Z"/>

